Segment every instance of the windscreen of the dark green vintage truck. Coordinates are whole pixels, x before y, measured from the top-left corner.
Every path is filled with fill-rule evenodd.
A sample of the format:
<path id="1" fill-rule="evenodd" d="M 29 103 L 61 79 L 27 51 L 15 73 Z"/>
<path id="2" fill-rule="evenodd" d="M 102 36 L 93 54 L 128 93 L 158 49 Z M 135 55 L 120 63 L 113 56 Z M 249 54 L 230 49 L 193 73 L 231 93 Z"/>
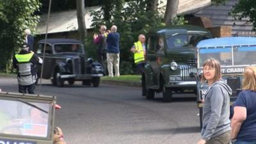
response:
<path id="1" fill-rule="evenodd" d="M 205 34 L 182 34 L 175 33 L 167 37 L 168 49 L 179 48 L 179 47 L 195 47 L 200 40 L 207 39 Z"/>

